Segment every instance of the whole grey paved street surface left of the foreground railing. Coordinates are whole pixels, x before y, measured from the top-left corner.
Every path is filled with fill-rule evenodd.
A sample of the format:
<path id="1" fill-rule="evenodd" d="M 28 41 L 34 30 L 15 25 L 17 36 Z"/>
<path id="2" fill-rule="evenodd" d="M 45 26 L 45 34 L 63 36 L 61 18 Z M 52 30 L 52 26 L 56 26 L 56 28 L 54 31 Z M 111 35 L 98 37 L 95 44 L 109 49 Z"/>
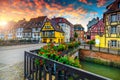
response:
<path id="1" fill-rule="evenodd" d="M 24 51 L 39 49 L 45 44 L 0 47 L 0 80 L 23 80 Z"/>

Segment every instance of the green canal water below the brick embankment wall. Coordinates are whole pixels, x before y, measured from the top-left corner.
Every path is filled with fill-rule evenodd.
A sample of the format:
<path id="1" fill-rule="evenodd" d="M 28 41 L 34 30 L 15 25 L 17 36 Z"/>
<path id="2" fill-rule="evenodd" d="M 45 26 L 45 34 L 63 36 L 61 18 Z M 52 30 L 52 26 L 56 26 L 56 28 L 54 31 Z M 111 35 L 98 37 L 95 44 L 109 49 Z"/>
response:
<path id="1" fill-rule="evenodd" d="M 120 80 L 120 69 L 118 68 L 95 64 L 91 62 L 85 62 L 85 61 L 82 61 L 81 65 L 83 70 L 108 77 L 112 80 Z"/>

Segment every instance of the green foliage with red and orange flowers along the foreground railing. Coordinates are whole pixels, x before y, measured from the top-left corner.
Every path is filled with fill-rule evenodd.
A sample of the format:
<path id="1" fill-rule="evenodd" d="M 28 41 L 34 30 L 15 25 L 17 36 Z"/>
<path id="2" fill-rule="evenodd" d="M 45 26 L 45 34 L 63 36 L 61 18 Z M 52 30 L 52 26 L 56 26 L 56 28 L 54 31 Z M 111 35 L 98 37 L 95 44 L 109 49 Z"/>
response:
<path id="1" fill-rule="evenodd" d="M 44 58 L 49 58 L 52 60 L 59 61 L 63 64 L 68 64 L 75 67 L 81 67 L 78 60 L 74 60 L 72 58 L 69 58 L 68 56 L 61 56 L 63 50 L 66 50 L 71 47 L 72 48 L 77 47 L 79 46 L 79 44 L 80 43 L 78 42 L 72 42 L 69 44 L 62 43 L 62 44 L 59 44 L 58 46 L 55 46 L 53 43 L 47 44 L 42 48 L 40 48 L 38 55 L 43 56 Z M 37 65 L 43 65 L 45 64 L 45 61 L 36 59 L 35 63 Z"/>

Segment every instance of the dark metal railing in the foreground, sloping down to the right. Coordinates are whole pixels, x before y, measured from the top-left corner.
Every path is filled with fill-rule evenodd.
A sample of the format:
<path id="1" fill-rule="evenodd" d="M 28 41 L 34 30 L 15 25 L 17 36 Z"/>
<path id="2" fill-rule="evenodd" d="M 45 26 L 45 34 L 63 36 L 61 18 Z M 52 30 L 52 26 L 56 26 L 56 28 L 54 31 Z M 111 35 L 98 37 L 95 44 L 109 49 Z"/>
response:
<path id="1" fill-rule="evenodd" d="M 45 64 L 37 65 L 35 63 L 36 59 L 45 61 Z M 109 80 L 26 51 L 24 54 L 24 77 L 27 80 Z"/>

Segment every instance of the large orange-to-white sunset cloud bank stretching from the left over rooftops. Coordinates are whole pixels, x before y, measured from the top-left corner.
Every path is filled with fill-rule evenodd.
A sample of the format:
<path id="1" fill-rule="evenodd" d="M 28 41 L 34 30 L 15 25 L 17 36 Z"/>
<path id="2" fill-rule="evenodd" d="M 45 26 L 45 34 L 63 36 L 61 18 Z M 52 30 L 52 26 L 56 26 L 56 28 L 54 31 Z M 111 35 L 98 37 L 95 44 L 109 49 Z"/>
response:
<path id="1" fill-rule="evenodd" d="M 87 0 L 81 0 L 88 3 Z M 74 8 L 74 4 L 62 6 L 55 3 L 47 3 L 44 0 L 5 0 L 0 2 L 0 19 L 10 21 L 18 21 L 23 18 L 29 20 L 30 18 L 38 16 L 48 16 L 48 18 L 65 17 L 72 24 L 82 24 L 84 27 L 89 21 L 86 18 L 88 11 L 82 7 Z M 97 14 L 97 13 L 90 13 Z"/>

